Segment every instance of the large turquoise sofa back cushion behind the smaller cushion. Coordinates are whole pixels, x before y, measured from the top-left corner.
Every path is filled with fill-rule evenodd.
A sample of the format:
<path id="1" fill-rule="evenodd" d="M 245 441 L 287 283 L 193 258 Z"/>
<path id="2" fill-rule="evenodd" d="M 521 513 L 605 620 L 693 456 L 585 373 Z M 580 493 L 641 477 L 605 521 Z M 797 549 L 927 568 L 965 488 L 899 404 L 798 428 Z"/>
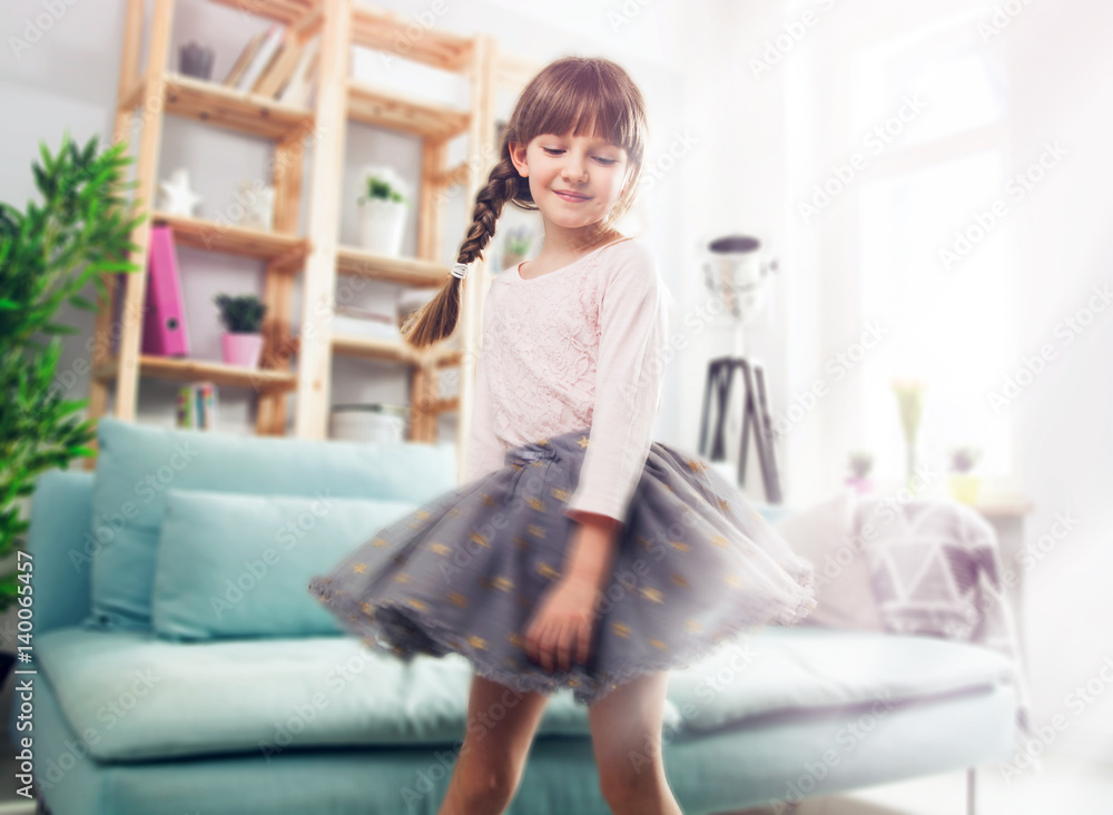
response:
<path id="1" fill-rule="evenodd" d="M 150 630 L 155 550 L 170 488 L 423 503 L 459 485 L 450 443 L 361 444 L 98 423 L 90 628 Z"/>

